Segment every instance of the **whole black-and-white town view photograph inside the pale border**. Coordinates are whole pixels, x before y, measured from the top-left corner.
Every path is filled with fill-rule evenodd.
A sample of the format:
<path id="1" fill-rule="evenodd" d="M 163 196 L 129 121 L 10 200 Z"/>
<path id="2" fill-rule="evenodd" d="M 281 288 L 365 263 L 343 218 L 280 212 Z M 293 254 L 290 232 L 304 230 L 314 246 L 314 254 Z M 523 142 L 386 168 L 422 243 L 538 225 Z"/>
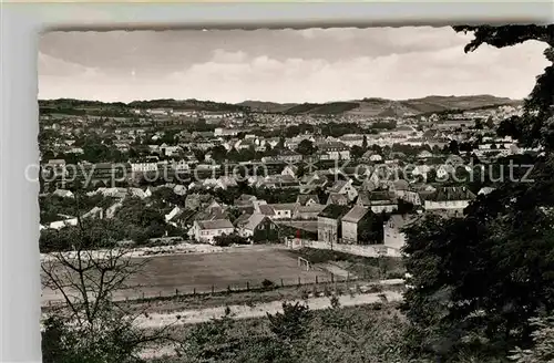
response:
<path id="1" fill-rule="evenodd" d="M 49 31 L 44 363 L 554 362 L 554 25 Z"/>

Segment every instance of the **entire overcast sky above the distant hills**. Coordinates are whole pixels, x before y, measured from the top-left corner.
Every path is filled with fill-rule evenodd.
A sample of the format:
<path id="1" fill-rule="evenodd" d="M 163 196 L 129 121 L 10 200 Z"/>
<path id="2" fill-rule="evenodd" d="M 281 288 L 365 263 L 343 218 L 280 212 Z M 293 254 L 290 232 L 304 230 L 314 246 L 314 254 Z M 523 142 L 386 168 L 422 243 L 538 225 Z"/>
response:
<path id="1" fill-rule="evenodd" d="M 523 98 L 546 66 L 538 42 L 484 45 L 451 28 L 51 32 L 39 97 L 237 103 L 492 94 Z"/>

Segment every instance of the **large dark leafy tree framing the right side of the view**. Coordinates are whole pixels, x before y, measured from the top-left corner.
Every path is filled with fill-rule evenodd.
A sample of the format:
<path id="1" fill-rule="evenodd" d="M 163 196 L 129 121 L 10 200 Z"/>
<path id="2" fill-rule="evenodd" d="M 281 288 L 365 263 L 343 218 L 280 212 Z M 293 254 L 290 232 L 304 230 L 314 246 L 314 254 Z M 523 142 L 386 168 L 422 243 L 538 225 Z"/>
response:
<path id="1" fill-rule="evenodd" d="M 465 51 L 483 43 L 503 48 L 526 40 L 547 42 L 554 28 L 536 25 L 454 27 L 473 31 Z M 552 53 L 546 52 L 552 62 Z M 404 294 L 410 342 L 421 352 L 447 357 L 472 350 L 505 356 L 532 343 L 529 319 L 554 310 L 554 172 L 550 124 L 554 71 L 537 77 L 521 117 L 502 122 L 499 134 L 542 145 L 531 179 L 503 175 L 496 190 L 480 196 L 462 218 L 428 217 L 407 228 L 406 267 L 412 288 Z M 550 137 L 550 138 L 548 138 Z M 547 139 L 548 138 L 548 139 Z M 500 160 L 499 163 L 503 163 Z M 500 165 L 496 165 L 500 166 Z"/>

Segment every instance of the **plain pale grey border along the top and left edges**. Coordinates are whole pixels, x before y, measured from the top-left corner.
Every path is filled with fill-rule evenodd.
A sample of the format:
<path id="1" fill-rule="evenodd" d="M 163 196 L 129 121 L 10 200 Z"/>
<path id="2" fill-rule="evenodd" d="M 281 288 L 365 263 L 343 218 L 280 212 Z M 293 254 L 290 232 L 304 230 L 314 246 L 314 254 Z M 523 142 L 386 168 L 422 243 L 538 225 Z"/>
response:
<path id="1" fill-rule="evenodd" d="M 0 362 L 41 362 L 38 34 L 47 29 L 309 28 L 547 23 L 553 2 L 0 3 Z"/>

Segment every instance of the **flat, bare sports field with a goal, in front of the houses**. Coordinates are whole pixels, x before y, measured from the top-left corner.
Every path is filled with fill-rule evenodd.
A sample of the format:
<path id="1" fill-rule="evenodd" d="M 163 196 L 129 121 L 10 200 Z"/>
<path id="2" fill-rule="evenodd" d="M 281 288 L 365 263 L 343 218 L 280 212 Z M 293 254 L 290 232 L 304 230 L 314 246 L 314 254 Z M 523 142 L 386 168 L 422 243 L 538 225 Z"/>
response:
<path id="1" fill-rule="evenodd" d="M 142 259 L 136 259 L 137 261 Z M 302 266 L 304 267 L 304 266 Z M 287 250 L 267 248 L 215 253 L 187 253 L 151 257 L 143 270 L 132 276 L 127 284 L 134 289 L 120 291 L 119 299 L 167 297 L 179 293 L 209 292 L 259 287 L 265 279 L 276 284 L 296 284 L 329 280 L 327 272 L 306 271 L 298 267 L 297 258 Z M 43 301 L 58 300 L 52 291 L 43 290 Z"/>

